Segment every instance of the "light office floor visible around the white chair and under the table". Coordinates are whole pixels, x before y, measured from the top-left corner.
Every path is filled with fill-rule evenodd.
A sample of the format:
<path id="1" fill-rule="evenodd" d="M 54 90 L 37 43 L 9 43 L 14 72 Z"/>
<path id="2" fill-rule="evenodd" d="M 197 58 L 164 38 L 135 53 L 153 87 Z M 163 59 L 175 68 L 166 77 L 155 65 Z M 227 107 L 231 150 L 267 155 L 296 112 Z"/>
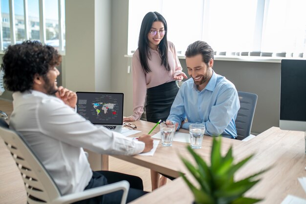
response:
<path id="1" fill-rule="evenodd" d="M 0 110 L 10 116 L 13 110 L 12 103 L 0 100 Z M 109 170 L 137 175 L 143 180 L 144 190 L 151 191 L 150 169 L 109 157 Z M 0 204 L 25 203 L 26 194 L 20 172 L 3 140 L 0 139 Z"/>

